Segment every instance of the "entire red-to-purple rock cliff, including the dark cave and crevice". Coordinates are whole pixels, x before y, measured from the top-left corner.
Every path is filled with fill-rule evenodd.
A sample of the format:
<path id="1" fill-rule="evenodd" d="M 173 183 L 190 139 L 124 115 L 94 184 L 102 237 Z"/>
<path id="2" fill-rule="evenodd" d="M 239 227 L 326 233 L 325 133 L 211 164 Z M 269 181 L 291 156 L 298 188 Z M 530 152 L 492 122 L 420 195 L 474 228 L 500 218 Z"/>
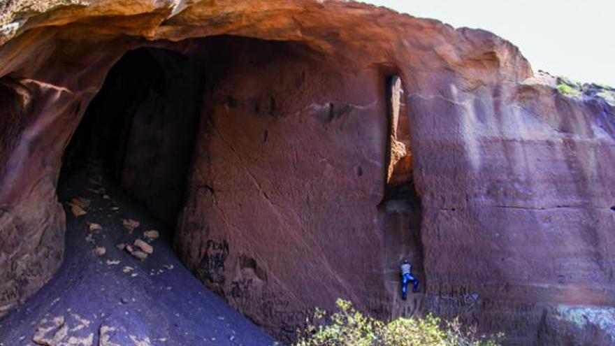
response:
<path id="1" fill-rule="evenodd" d="M 608 90 L 560 94 L 493 34 L 359 3 L 106 0 L 11 20 L 3 311 L 61 263 L 62 157 L 96 152 L 177 219 L 184 263 L 280 338 L 342 297 L 460 315 L 511 344 L 611 340 Z M 73 133 L 94 150 L 71 156 Z M 408 303 L 404 257 L 423 290 Z"/>

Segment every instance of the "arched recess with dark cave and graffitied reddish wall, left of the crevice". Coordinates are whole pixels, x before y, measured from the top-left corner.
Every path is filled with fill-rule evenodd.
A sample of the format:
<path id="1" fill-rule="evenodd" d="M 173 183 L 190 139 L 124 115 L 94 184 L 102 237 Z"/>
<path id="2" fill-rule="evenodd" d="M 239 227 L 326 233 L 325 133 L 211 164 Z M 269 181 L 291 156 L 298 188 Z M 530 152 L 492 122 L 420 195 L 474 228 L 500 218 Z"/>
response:
<path id="1" fill-rule="evenodd" d="M 60 180 L 99 165 L 175 232 L 196 277 L 282 340 L 337 298 L 405 313 L 391 309 L 399 243 L 420 241 L 408 229 L 420 219 L 386 189 L 390 71 L 336 58 L 239 36 L 126 52 L 66 147 Z M 410 146 L 408 129 L 397 134 Z M 305 271 L 321 280 L 297 280 Z"/>

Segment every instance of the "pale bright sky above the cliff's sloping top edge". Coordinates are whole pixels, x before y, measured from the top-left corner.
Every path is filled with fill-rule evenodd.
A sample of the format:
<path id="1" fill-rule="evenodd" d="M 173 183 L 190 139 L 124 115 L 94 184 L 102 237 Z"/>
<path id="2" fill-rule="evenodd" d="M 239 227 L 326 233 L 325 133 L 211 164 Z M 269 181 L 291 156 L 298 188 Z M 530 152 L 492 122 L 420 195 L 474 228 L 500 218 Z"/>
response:
<path id="1" fill-rule="evenodd" d="M 489 30 L 534 71 L 615 87 L 615 0 L 365 0 L 453 27 Z"/>

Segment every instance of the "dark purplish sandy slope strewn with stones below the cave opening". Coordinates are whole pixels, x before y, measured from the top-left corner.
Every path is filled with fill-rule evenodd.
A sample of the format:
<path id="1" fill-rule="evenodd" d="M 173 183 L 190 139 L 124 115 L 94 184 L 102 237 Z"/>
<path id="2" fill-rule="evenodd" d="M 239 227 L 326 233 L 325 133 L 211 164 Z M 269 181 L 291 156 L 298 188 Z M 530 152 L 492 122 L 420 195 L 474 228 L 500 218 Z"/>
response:
<path id="1" fill-rule="evenodd" d="M 84 170 L 61 182 L 58 194 L 66 210 L 64 264 L 0 319 L 0 346 L 274 343 L 182 266 L 171 232 L 113 181 Z M 150 230 L 159 238 L 147 238 Z M 137 238 L 154 250 L 143 261 L 116 247 Z"/>

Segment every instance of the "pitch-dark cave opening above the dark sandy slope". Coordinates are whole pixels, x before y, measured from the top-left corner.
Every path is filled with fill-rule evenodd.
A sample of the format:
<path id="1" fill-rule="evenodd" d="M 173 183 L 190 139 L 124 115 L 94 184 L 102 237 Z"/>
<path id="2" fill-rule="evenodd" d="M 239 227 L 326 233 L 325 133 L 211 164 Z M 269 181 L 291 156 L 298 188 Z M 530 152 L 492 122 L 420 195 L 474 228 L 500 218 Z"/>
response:
<path id="1" fill-rule="evenodd" d="M 127 52 L 110 70 L 64 153 L 60 180 L 97 166 L 170 229 L 182 206 L 205 78 L 184 55 Z"/>

